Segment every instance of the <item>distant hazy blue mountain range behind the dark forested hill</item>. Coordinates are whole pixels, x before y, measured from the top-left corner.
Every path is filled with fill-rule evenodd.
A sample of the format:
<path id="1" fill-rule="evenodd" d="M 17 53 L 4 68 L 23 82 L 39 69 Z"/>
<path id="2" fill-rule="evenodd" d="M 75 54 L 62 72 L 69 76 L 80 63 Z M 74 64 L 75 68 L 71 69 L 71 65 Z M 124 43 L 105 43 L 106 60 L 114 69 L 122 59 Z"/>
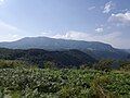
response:
<path id="1" fill-rule="evenodd" d="M 77 49 L 95 59 L 127 59 L 129 52 L 99 41 L 66 40 L 48 37 L 26 37 L 12 42 L 0 42 L 0 48 L 44 49 L 50 51 Z"/>

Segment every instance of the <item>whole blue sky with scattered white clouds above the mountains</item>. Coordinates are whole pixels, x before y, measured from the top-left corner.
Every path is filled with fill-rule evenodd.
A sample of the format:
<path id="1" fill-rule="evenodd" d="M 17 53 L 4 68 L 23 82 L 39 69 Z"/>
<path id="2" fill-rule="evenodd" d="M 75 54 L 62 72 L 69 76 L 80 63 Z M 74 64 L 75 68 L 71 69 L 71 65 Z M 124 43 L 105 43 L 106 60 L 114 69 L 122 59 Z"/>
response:
<path id="1" fill-rule="evenodd" d="M 31 36 L 130 48 L 130 0 L 0 0 L 0 41 Z"/>

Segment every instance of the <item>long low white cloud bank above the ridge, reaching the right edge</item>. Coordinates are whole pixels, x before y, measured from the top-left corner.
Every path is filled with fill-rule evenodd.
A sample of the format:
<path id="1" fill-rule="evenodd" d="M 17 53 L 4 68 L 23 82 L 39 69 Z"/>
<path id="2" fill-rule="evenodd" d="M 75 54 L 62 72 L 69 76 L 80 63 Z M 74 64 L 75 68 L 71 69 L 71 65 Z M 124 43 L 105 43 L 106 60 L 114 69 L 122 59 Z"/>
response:
<path id="1" fill-rule="evenodd" d="M 128 48 L 130 46 L 129 39 L 121 38 L 122 33 L 114 32 L 106 35 L 95 35 L 90 33 L 82 33 L 82 32 L 67 32 L 66 34 L 57 34 L 52 36 L 52 38 L 62 38 L 62 39 L 73 39 L 73 40 L 86 40 L 86 41 L 101 41 L 110 44 L 117 48 Z M 127 46 L 126 46 L 127 45 Z"/>

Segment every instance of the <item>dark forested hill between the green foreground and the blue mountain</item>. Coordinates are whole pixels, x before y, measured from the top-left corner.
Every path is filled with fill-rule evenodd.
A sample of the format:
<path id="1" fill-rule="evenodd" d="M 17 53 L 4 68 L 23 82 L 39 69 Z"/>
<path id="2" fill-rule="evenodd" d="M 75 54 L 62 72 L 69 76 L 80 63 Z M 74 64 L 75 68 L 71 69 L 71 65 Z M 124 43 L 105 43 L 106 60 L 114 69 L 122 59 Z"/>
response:
<path id="1" fill-rule="evenodd" d="M 0 59 L 22 60 L 43 66 L 47 61 L 54 62 L 60 68 L 79 66 L 96 62 L 91 56 L 79 50 L 47 51 L 43 49 L 0 49 Z"/>

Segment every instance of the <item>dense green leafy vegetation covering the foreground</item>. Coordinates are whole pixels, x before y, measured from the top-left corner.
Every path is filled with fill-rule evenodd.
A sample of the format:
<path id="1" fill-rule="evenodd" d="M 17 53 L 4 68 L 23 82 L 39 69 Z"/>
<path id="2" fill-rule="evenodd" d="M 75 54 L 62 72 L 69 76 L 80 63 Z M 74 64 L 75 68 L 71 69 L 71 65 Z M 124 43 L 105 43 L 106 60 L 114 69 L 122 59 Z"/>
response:
<path id="1" fill-rule="evenodd" d="M 38 69 L 22 61 L 1 60 L 0 98 L 130 98 L 129 70 L 102 69 L 109 62 L 102 60 L 101 69 L 92 70 L 53 69 L 52 62 Z"/>

